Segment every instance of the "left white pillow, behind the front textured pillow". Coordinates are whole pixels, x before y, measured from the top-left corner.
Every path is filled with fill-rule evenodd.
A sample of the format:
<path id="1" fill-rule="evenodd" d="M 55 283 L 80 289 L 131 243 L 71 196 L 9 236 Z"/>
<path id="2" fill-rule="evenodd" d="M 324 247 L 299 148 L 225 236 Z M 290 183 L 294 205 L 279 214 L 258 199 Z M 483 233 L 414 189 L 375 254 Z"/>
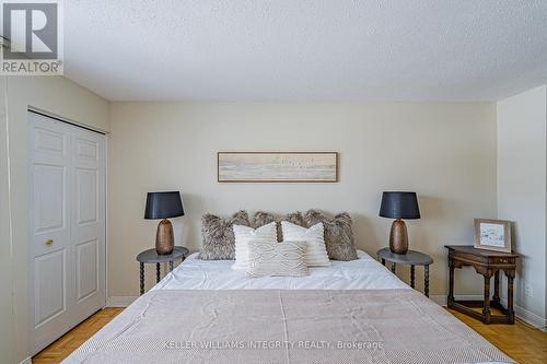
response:
<path id="1" fill-rule="evenodd" d="M 244 225 L 233 225 L 235 237 L 235 265 L 234 269 L 245 269 L 248 267 L 248 242 L 263 242 L 277 244 L 276 222 L 271 222 L 258 228 Z"/>

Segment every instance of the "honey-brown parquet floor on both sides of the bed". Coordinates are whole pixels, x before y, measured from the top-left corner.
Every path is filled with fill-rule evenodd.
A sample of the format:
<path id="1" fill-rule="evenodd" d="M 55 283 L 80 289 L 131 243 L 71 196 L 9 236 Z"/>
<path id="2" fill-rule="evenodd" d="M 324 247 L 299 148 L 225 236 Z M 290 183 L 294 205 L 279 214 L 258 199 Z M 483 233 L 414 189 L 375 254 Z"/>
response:
<path id="1" fill-rule="evenodd" d="M 123 308 L 105 308 L 88 318 L 33 357 L 33 364 L 59 363 L 109 322 Z M 515 325 L 484 325 L 449 310 L 509 356 L 522 364 L 547 363 L 547 333 L 516 321 Z"/>

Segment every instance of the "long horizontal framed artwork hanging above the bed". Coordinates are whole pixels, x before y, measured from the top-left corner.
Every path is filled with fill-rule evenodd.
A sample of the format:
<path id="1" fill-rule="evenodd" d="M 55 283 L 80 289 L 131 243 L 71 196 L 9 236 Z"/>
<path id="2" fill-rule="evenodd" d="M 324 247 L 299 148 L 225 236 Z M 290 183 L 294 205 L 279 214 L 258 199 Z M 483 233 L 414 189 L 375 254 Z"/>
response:
<path id="1" fill-rule="evenodd" d="M 219 183 L 335 183 L 337 152 L 219 152 Z"/>

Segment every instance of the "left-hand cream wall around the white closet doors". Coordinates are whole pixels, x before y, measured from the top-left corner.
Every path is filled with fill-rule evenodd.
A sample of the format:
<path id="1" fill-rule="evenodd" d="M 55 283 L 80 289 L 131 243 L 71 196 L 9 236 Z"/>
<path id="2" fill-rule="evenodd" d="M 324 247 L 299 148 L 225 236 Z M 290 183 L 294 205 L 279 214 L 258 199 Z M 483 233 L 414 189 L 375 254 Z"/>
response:
<path id="1" fill-rule="evenodd" d="M 10 342 L 10 350 L 0 352 L 0 362 L 20 362 L 28 355 L 28 126 L 27 108 L 35 107 L 96 129 L 108 131 L 108 103 L 92 92 L 60 77 L 8 78 L 8 125 L 11 190 L 2 183 L 2 198 L 12 206 L 11 242 L 13 254 L 13 331 L 0 327 L 0 341 Z M 4 160 L 2 157 L 2 160 Z M 1 164 L 0 164 L 1 167 Z M 0 171 L 2 173 L 2 171 Z M 2 173 L 2 177 L 4 174 Z M 2 199 L 3 201 L 3 199 Z M 3 202 L 1 203 L 3 206 Z M 2 208 L 3 211 L 3 208 Z M 3 219 L 2 219 L 3 221 Z M 3 227 L 3 225 L 2 225 Z M 3 228 L 2 228 L 3 232 Z M 3 253 L 2 235 L 2 253 Z M 8 277 L 0 277 L 2 287 Z M 9 283 L 11 285 L 11 282 Z M 3 292 L 3 291 L 2 291 Z M 2 313 L 3 320 L 3 313 Z"/>

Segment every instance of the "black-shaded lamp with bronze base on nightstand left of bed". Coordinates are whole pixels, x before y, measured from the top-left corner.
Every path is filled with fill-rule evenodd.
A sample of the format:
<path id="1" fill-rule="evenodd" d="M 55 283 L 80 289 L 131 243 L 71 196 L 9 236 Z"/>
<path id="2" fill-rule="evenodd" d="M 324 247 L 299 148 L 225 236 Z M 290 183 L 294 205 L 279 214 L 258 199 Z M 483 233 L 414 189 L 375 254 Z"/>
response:
<path id="1" fill-rule="evenodd" d="M 162 219 L 155 234 L 155 251 L 161 255 L 173 253 L 173 225 L 170 218 L 184 216 L 183 201 L 178 191 L 148 192 L 144 219 Z"/>

